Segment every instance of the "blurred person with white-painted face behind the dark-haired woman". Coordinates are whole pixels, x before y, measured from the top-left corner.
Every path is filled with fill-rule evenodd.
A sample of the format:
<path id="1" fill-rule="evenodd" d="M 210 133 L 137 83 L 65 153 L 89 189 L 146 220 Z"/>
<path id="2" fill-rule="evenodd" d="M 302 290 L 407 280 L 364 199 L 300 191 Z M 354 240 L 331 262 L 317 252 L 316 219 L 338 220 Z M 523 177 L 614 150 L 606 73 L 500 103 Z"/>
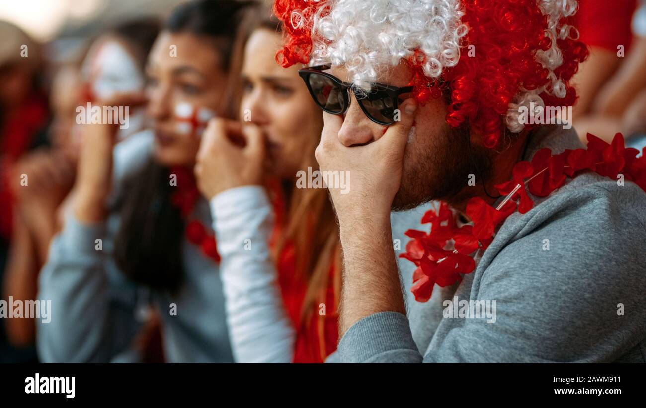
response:
<path id="1" fill-rule="evenodd" d="M 54 74 L 50 92 L 53 117 L 48 127 L 49 148 L 39 148 L 21 158 L 11 178 L 28 176 L 28 185 L 13 183 L 16 198 L 16 240 L 7 261 L 5 298 L 33 300 L 37 275 L 47 260 L 50 240 L 63 224 L 63 210 L 78 161 L 83 126 L 76 122 L 79 106 L 108 99 L 120 92 L 143 90 L 143 68 L 159 31 L 156 19 L 127 21 L 99 35 L 81 66 L 67 63 Z M 141 118 L 140 112 L 136 117 Z M 134 116 L 134 115 L 133 115 Z M 130 121 L 123 138 L 141 130 L 143 121 Z M 126 133 L 127 132 L 127 133 Z M 65 200 L 65 201 L 64 201 Z M 8 338 L 16 345 L 33 345 L 36 324 L 28 318 L 8 320 Z"/>

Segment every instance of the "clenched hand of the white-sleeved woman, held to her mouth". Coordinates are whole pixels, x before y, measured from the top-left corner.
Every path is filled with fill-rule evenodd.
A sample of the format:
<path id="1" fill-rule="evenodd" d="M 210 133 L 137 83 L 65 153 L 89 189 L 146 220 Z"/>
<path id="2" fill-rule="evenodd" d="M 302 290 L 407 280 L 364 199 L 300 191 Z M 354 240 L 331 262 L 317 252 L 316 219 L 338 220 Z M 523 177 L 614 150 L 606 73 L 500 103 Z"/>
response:
<path id="1" fill-rule="evenodd" d="M 265 138 L 256 125 L 211 119 L 202 134 L 195 176 L 202 195 L 211 199 L 224 190 L 260 185 Z"/>

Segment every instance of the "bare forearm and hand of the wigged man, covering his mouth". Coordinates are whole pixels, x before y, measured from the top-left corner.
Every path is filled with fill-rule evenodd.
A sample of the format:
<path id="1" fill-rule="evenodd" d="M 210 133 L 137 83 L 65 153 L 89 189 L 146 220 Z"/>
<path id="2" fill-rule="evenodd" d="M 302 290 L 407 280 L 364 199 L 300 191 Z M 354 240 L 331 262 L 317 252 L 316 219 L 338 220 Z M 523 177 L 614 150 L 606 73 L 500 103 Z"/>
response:
<path id="1" fill-rule="evenodd" d="M 329 188 L 344 253 L 341 336 L 370 314 L 406 312 L 391 243 L 390 207 L 401 183 L 404 150 L 417 103 L 408 99 L 399 109 L 401 120 L 383 136 L 354 147 L 339 140 L 343 119 L 323 114 L 325 125 L 316 150 L 320 170 L 349 172 L 348 194 Z"/>

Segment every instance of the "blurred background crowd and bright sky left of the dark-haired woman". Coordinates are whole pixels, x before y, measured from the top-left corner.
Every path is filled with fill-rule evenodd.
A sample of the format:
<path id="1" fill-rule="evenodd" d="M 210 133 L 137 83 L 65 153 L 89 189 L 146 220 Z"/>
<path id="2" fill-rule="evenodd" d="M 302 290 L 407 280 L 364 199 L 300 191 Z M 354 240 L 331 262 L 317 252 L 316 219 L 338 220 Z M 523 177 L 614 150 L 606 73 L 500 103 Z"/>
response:
<path id="1" fill-rule="evenodd" d="M 0 282 L 5 298 L 36 296 L 37 272 L 47 257 L 57 209 L 74 182 L 76 107 L 89 100 L 92 88 L 142 88 L 152 41 L 162 19 L 180 3 L 43 0 L 0 5 Z M 101 44 L 115 37 L 125 42 L 130 55 L 112 59 L 108 52 L 98 59 Z M 101 79 L 96 78 L 98 70 Z M 135 125 L 134 132 L 140 128 L 141 123 Z M 29 192 L 41 194 L 10 189 L 6 178 L 12 170 L 33 174 L 32 183 L 41 185 Z M 0 362 L 37 361 L 33 325 L 25 330 L 11 323 L 0 321 Z"/>

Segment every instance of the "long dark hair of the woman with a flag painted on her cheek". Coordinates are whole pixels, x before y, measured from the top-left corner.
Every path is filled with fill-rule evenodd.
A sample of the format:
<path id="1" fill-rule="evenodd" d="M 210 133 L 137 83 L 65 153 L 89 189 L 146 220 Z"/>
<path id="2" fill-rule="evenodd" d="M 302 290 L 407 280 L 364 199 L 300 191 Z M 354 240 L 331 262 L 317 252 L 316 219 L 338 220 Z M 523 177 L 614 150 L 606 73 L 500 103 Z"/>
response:
<path id="1" fill-rule="evenodd" d="M 178 6 L 164 30 L 213 38 L 222 70 L 229 72 L 235 34 L 243 10 L 253 2 L 197 0 Z M 171 172 L 150 159 L 125 182 L 120 200 L 120 230 L 114 256 L 131 280 L 176 294 L 183 282 L 184 221 L 172 205 Z"/>

